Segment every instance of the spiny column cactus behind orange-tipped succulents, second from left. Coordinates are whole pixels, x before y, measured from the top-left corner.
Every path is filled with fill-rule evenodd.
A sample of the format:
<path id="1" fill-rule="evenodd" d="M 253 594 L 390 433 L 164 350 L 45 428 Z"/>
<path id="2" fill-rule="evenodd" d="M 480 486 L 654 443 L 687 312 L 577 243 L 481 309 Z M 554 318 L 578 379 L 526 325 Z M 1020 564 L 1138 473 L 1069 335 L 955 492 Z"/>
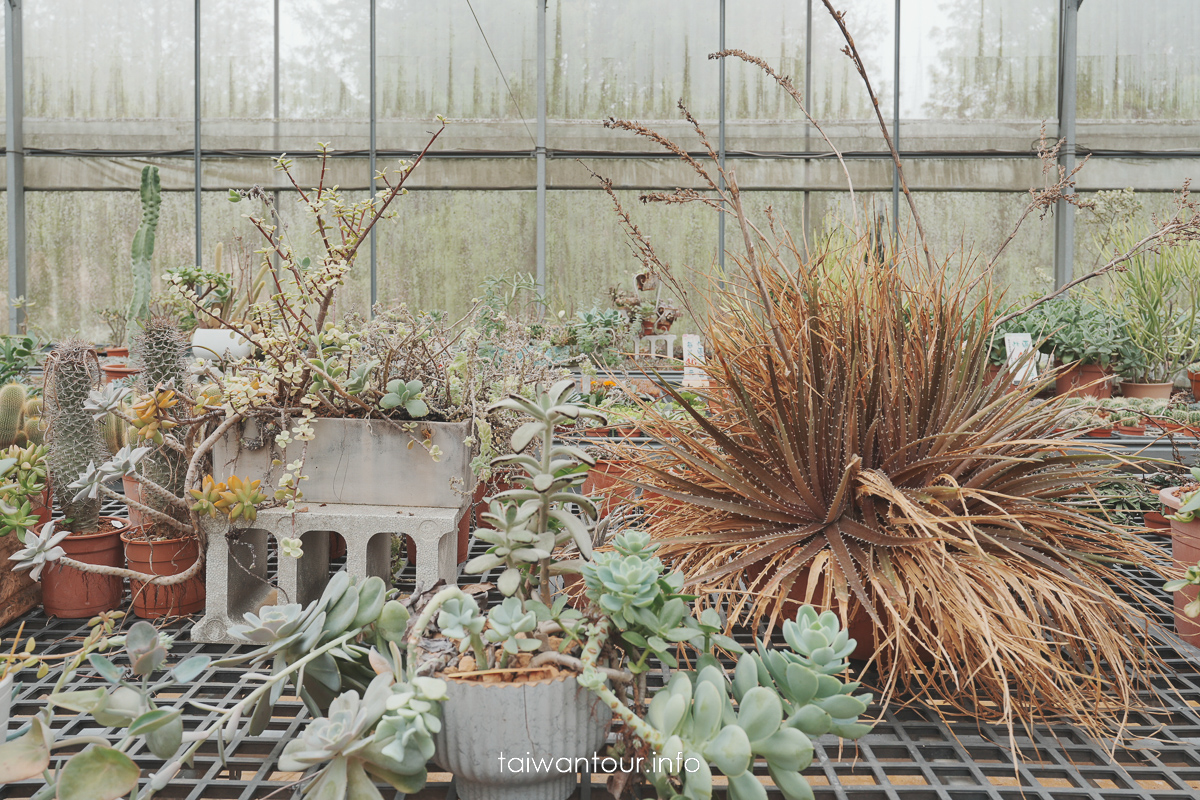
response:
<path id="1" fill-rule="evenodd" d="M 187 373 L 187 354 L 191 345 L 187 337 L 172 319 L 154 317 L 145 321 L 131 343 L 133 363 L 142 368 L 138 374 L 138 391 L 149 393 L 158 386 L 168 386 L 191 393 Z M 185 497 L 187 455 L 166 445 L 160 445 L 142 461 L 142 471 L 151 481 L 175 497 Z M 178 506 L 157 495 L 145 498 L 148 505 L 163 513 L 170 513 L 180 522 L 186 515 Z"/>

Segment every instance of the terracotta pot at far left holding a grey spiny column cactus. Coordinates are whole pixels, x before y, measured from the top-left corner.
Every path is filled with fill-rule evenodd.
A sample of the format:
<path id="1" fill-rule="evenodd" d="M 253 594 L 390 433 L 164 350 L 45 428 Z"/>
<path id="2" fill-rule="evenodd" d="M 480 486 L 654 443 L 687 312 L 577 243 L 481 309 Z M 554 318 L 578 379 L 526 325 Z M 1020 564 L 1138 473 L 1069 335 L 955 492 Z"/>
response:
<path id="1" fill-rule="evenodd" d="M 120 536 L 128 523 L 116 517 L 101 517 L 100 522 L 119 527 L 100 534 L 73 534 L 64 539 L 60 547 L 76 561 L 124 567 Z M 37 525 L 34 530 L 41 533 L 41 529 L 42 525 Z M 80 572 L 65 564 L 48 564 L 42 570 L 42 606 L 47 616 L 89 619 L 100 612 L 116 609 L 124 594 L 122 578 Z"/>

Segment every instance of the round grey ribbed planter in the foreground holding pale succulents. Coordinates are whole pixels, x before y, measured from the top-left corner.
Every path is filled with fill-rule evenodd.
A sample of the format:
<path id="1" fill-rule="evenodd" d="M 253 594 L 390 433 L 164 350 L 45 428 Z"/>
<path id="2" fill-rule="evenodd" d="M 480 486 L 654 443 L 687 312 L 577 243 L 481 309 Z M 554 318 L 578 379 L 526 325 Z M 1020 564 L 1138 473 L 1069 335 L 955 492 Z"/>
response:
<path id="1" fill-rule="evenodd" d="M 433 760 L 454 772 L 463 800 L 565 800 L 576 759 L 590 764 L 612 720 L 575 675 L 536 684 L 449 679 L 446 693 Z"/>

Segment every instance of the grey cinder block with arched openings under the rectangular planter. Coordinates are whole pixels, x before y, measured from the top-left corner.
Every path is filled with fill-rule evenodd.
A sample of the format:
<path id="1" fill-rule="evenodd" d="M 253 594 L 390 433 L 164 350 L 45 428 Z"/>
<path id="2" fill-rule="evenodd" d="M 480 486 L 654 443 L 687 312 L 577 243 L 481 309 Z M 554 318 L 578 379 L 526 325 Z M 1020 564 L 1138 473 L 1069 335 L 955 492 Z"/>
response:
<path id="1" fill-rule="evenodd" d="M 458 577 L 458 509 L 323 504 L 295 515 L 287 509 L 258 512 L 253 527 L 235 529 L 224 519 L 204 521 L 208 537 L 204 616 L 192 628 L 193 642 L 233 642 L 229 626 L 246 612 L 271 603 L 308 603 L 329 581 L 329 535 L 346 540 L 346 570 L 355 578 L 379 576 L 390 583 L 391 540 L 407 534 L 416 545 L 416 588 Z M 278 557 L 276 587 L 266 578 L 268 536 L 300 539 L 304 555 Z"/>

